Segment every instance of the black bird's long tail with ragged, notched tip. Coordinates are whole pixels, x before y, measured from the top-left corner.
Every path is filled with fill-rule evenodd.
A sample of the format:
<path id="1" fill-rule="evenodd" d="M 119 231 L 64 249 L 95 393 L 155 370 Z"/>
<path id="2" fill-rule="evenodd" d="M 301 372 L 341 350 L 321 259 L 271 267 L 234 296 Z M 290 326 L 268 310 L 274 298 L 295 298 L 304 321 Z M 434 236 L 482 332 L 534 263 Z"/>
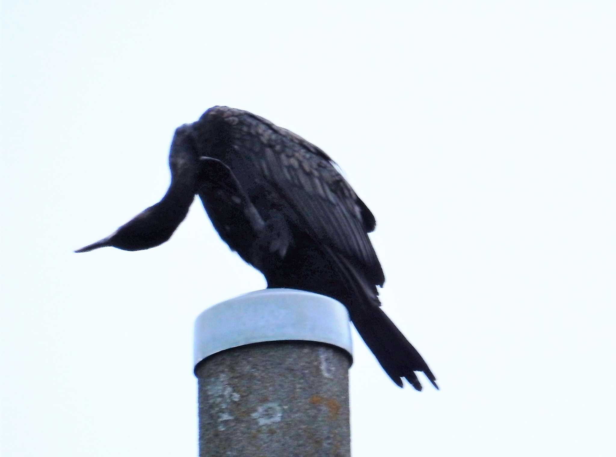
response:
<path id="1" fill-rule="evenodd" d="M 406 378 L 416 390 L 421 390 L 421 382 L 415 371 L 423 371 L 438 389 L 436 377 L 426 361 L 379 307 L 376 287 L 368 285 L 347 259 L 336 255 L 330 249 L 326 250 L 329 257 L 338 264 L 342 279 L 351 292 L 341 301 L 349 310 L 351 321 L 363 341 L 389 377 L 400 387 L 403 386 L 402 378 Z M 345 303 L 346 301 L 351 302 Z"/>

